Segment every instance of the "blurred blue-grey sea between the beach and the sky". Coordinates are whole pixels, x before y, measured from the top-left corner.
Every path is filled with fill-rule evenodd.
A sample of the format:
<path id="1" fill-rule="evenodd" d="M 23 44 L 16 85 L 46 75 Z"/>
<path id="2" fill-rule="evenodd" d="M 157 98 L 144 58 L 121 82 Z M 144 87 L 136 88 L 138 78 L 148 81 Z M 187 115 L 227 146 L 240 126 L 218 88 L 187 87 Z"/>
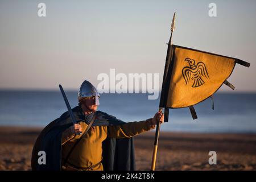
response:
<path id="1" fill-rule="evenodd" d="M 234 91 L 235 92 L 235 91 Z M 66 91 L 71 107 L 77 106 L 77 91 Z M 170 109 L 161 131 L 188 133 L 256 133 L 256 93 L 216 93 L 212 100 L 195 105 L 198 119 L 188 108 Z M 98 110 L 125 122 L 152 118 L 158 100 L 148 94 L 101 94 Z M 0 126 L 44 127 L 67 111 L 58 90 L 0 90 Z"/>

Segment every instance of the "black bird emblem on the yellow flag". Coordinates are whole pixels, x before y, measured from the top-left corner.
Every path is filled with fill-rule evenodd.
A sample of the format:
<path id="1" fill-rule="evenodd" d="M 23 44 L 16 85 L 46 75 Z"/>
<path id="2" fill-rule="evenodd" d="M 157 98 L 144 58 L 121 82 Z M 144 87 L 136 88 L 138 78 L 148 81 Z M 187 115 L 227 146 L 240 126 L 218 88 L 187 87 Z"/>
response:
<path id="1" fill-rule="evenodd" d="M 195 64 L 195 60 L 188 57 L 184 61 L 188 61 L 189 64 L 189 67 L 184 67 L 182 69 L 182 75 L 186 85 L 189 80 L 194 81 L 192 85 L 193 88 L 203 85 L 204 78 L 209 78 L 205 64 L 203 62 Z"/>

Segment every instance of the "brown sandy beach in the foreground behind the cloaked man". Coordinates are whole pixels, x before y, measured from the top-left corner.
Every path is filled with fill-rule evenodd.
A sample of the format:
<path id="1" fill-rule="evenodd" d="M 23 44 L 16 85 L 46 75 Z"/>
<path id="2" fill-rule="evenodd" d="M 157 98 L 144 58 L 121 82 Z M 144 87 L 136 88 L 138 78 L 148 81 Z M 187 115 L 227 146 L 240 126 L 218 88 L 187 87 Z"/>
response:
<path id="1" fill-rule="evenodd" d="M 41 128 L 0 127 L 0 170 L 31 170 Z M 150 170 L 155 133 L 134 137 L 138 170 Z M 209 165 L 209 151 L 217 164 Z M 256 134 L 160 133 L 156 170 L 255 170 Z"/>

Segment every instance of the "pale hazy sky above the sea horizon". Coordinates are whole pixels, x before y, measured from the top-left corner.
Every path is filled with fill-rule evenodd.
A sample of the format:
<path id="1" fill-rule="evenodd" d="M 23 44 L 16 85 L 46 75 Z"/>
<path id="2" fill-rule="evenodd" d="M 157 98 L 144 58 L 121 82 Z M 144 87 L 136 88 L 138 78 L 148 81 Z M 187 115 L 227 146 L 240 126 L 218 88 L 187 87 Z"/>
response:
<path id="1" fill-rule="evenodd" d="M 38 4 L 46 3 L 46 17 Z M 217 17 L 208 15 L 216 3 Z M 78 89 L 100 73 L 159 73 L 173 43 L 251 63 L 228 79 L 256 92 L 256 1 L 0 0 L 0 89 Z M 221 90 L 230 90 L 222 86 Z"/>

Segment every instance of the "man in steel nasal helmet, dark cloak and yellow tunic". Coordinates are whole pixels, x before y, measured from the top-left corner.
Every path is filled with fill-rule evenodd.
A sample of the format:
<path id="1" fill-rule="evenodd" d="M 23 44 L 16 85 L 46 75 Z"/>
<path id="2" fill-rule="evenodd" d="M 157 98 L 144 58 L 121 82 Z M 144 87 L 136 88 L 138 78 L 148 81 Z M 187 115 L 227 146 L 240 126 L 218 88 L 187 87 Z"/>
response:
<path id="1" fill-rule="evenodd" d="M 43 129 L 32 151 L 32 170 L 135 170 L 133 136 L 154 129 L 164 116 L 158 112 L 146 121 L 125 123 L 97 111 L 99 98 L 97 89 L 85 80 L 79 106 L 72 109 L 77 123 L 65 112 Z M 39 151 L 46 154 L 44 164 L 39 163 Z"/>

